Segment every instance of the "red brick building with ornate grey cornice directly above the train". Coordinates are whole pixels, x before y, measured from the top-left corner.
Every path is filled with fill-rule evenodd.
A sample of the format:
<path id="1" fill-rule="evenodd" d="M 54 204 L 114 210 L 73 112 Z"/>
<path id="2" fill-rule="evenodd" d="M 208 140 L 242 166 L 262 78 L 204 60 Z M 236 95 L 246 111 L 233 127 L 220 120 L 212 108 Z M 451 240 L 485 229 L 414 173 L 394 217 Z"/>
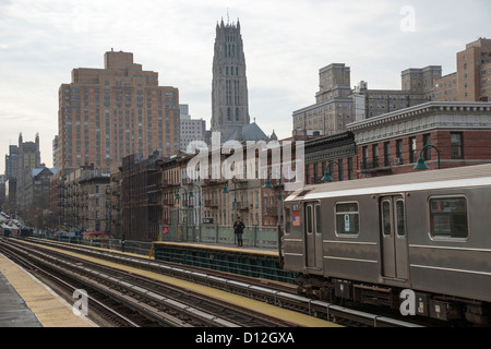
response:
<path id="1" fill-rule="evenodd" d="M 491 163 L 491 105 L 428 103 L 348 125 L 358 178 L 411 172 L 424 145 L 440 151 L 441 168 Z M 433 147 L 423 152 L 438 167 Z"/>

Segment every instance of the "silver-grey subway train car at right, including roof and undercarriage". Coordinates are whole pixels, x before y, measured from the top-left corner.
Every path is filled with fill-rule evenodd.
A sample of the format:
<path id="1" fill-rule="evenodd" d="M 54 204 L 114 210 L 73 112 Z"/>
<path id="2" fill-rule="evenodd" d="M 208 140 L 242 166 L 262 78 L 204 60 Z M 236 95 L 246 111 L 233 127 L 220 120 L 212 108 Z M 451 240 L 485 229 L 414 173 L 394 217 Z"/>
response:
<path id="1" fill-rule="evenodd" d="M 284 219 L 300 293 L 491 324 L 491 165 L 304 186 Z"/>

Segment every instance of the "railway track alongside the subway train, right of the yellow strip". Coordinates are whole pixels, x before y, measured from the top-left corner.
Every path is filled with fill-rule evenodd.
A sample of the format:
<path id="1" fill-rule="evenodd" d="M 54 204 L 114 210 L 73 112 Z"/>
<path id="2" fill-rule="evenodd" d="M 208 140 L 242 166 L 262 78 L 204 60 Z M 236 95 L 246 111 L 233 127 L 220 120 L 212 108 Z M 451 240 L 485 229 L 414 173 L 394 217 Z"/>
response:
<path id="1" fill-rule="evenodd" d="M 412 323 L 381 316 L 373 313 L 357 311 L 345 306 L 334 305 L 322 301 L 311 300 L 296 293 L 292 286 L 258 280 L 227 273 L 196 268 L 183 265 L 172 265 L 152 261 L 144 257 L 128 256 L 119 253 L 100 251 L 81 245 L 70 245 L 53 241 L 35 240 L 36 244 L 56 246 L 72 252 L 83 253 L 93 257 L 124 264 L 140 269 L 164 274 L 170 277 L 184 279 L 228 292 L 233 292 L 255 300 L 264 301 L 280 308 L 298 311 L 311 316 L 335 322 L 346 326 L 370 327 L 414 327 Z"/>

